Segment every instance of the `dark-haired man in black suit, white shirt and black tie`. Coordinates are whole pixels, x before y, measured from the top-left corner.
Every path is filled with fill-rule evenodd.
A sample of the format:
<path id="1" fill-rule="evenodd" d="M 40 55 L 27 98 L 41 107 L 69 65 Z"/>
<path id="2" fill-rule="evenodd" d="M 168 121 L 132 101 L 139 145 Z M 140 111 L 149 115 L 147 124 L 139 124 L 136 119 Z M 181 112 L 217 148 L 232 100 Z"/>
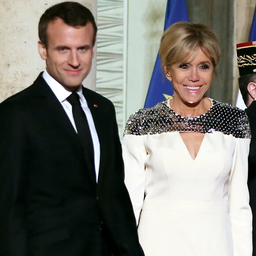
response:
<path id="1" fill-rule="evenodd" d="M 113 104 L 82 87 L 93 15 L 56 4 L 38 31 L 46 70 L 0 104 L 0 256 L 142 256 Z"/>

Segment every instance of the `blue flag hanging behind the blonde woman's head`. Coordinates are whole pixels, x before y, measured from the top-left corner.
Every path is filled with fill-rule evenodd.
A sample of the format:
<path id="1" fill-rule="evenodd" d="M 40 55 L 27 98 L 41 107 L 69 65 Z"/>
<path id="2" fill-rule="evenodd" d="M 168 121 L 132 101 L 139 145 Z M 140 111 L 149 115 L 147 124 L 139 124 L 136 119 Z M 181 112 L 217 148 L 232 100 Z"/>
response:
<path id="1" fill-rule="evenodd" d="M 166 7 L 166 19 L 165 28 L 166 30 L 173 23 L 179 21 L 188 22 L 188 10 L 186 0 L 168 0 Z M 161 68 L 161 61 L 159 53 L 154 64 L 154 70 L 152 73 L 150 85 L 147 91 L 147 98 L 145 101 L 144 108 L 151 108 L 158 102 L 165 100 L 166 95 L 173 95 L 173 85 L 166 78 Z"/>

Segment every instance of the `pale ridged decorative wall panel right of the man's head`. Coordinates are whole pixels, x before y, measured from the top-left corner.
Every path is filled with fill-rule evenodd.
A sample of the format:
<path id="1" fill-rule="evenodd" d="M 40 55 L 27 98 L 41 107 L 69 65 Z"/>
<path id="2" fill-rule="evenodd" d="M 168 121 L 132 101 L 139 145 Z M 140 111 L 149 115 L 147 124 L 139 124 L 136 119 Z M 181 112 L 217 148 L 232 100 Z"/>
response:
<path id="1" fill-rule="evenodd" d="M 96 90 L 115 105 L 120 138 L 124 131 L 125 0 L 98 0 Z"/>

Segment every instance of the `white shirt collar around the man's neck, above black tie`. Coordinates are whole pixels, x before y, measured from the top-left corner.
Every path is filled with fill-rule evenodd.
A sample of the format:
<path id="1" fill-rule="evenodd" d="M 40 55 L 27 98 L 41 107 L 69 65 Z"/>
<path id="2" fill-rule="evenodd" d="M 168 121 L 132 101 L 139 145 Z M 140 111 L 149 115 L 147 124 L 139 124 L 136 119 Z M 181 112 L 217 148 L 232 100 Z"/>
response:
<path id="1" fill-rule="evenodd" d="M 63 102 L 66 98 L 68 98 L 70 94 L 72 94 L 71 91 L 66 90 L 59 82 L 57 82 L 52 76 L 50 76 L 46 69 L 43 72 L 43 78 L 45 79 L 45 82 L 49 85 L 49 87 L 52 89 L 53 93 L 55 94 L 59 102 Z M 76 93 L 79 95 L 79 98 L 83 103 L 82 85 L 79 87 Z"/>

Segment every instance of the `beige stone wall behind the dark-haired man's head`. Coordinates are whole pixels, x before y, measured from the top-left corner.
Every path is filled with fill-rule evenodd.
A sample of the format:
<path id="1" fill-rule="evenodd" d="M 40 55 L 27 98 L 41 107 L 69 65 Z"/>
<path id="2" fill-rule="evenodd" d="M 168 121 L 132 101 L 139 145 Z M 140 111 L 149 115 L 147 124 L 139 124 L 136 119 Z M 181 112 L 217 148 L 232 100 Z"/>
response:
<path id="1" fill-rule="evenodd" d="M 0 0 L 0 102 L 28 87 L 45 69 L 38 54 L 38 22 L 60 0 Z M 78 0 L 97 15 L 97 0 Z M 95 89 L 96 63 L 85 85 Z"/>

